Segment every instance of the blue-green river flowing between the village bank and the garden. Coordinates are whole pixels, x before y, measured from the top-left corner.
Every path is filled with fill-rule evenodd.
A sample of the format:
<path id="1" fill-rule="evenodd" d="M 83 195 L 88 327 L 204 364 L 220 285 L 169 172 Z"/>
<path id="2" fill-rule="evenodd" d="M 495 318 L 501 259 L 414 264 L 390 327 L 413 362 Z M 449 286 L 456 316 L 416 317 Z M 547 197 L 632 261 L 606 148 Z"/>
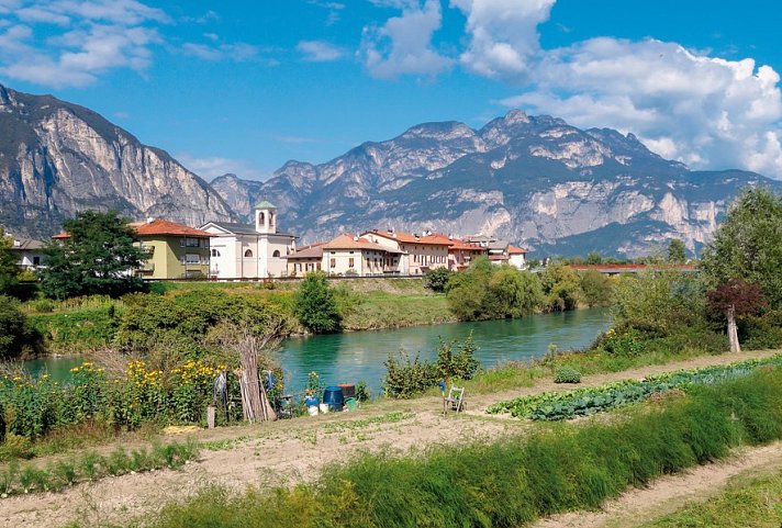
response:
<path id="1" fill-rule="evenodd" d="M 286 339 L 279 359 L 289 391 L 303 390 L 309 372 L 315 371 L 326 384 L 366 381 L 378 394 L 386 372 L 389 352 L 404 349 L 411 358 L 437 357 L 442 336 L 446 340 L 465 339 L 470 332 L 479 350 L 476 357 L 483 367 L 503 361 L 540 357 L 555 344 L 559 350 L 588 347 L 610 324 L 607 310 L 578 310 L 562 314 L 533 315 L 522 319 L 453 323 L 412 326 L 391 330 L 353 332 L 327 336 Z M 54 379 L 66 379 L 68 371 L 80 364 L 79 357 L 44 358 L 25 363 L 33 374 L 48 372 Z"/>

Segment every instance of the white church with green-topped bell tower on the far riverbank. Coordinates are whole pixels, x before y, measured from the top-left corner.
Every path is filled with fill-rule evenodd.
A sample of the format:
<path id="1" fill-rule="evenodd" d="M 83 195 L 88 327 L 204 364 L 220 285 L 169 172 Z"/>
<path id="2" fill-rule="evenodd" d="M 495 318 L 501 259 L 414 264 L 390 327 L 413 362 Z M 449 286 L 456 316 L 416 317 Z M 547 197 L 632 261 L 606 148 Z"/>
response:
<path id="1" fill-rule="evenodd" d="M 277 231 L 277 207 L 267 201 L 255 206 L 255 224 L 209 222 L 212 252 L 210 277 L 266 279 L 286 277 L 286 257 L 295 251 L 295 235 Z"/>

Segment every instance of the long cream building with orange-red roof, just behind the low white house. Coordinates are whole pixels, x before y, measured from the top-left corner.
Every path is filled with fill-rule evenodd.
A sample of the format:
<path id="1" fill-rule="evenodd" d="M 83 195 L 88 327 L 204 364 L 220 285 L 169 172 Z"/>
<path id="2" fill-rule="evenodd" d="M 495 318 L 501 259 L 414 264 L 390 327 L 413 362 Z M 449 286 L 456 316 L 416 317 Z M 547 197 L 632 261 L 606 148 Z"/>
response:
<path id="1" fill-rule="evenodd" d="M 361 238 L 394 249 L 401 261 L 400 273 L 417 276 L 429 269 L 448 267 L 448 248 L 454 245 L 445 235 L 409 234 L 389 231 L 368 231 Z"/>

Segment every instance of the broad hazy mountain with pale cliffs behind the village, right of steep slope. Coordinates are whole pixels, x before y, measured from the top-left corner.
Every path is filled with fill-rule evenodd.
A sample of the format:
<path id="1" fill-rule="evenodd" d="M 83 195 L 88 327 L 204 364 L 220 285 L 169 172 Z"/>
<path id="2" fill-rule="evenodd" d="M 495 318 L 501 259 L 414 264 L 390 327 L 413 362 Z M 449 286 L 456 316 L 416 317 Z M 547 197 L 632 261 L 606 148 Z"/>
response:
<path id="1" fill-rule="evenodd" d="M 328 162 L 289 161 L 264 183 L 221 177 L 243 216 L 259 198 L 304 240 L 369 228 L 483 233 L 544 254 L 635 257 L 671 238 L 707 241 L 745 186 L 779 182 L 741 170 L 691 171 L 633 134 L 580 130 L 514 110 L 473 130 L 425 123 Z"/>

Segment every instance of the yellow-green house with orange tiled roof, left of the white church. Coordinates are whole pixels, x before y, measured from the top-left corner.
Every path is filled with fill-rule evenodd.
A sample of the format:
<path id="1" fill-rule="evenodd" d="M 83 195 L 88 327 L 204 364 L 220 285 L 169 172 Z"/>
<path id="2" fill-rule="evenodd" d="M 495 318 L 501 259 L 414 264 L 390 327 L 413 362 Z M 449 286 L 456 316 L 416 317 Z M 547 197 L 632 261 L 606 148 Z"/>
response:
<path id="1" fill-rule="evenodd" d="M 212 235 L 160 218 L 131 224 L 147 260 L 135 273 L 145 279 L 204 279 L 210 270 Z"/>

